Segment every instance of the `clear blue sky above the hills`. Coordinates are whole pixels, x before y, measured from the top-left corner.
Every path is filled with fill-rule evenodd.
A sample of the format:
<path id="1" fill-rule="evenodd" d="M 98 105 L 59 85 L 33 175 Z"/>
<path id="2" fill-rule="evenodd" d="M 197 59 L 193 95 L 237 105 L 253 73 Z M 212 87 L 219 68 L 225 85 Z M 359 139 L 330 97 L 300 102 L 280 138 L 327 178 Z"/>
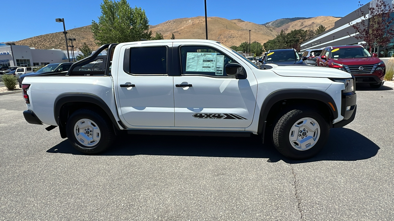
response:
<path id="1" fill-rule="evenodd" d="M 102 0 L 13 0 L 17 6 L 1 21 L 0 42 L 18 41 L 29 37 L 63 31 L 55 18 L 64 18 L 66 29 L 91 24 L 100 16 Z M 156 25 L 175 18 L 204 16 L 204 0 L 128 0 L 130 6 L 145 9 L 149 24 Z M 262 2 L 262 3 L 258 3 Z M 343 17 L 357 9 L 359 0 L 207 0 L 208 17 L 216 16 L 263 24 L 279 18 L 335 16 Z M 366 4 L 370 0 L 361 0 Z M 330 7 L 333 6 L 333 7 Z M 208 22 L 209 25 L 209 22 Z"/>

